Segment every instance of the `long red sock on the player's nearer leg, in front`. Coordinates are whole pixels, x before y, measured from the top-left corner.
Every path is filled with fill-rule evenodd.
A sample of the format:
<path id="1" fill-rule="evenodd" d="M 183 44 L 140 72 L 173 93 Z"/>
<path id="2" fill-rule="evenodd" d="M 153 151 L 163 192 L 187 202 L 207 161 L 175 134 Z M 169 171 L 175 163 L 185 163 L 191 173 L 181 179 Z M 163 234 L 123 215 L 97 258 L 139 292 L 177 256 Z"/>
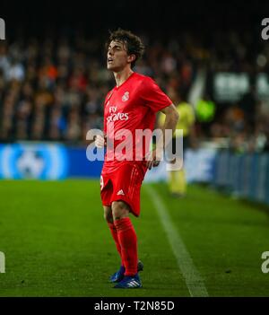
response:
<path id="1" fill-rule="evenodd" d="M 129 218 L 115 220 L 117 238 L 121 247 L 121 256 L 126 267 L 125 276 L 137 273 L 137 239 L 133 224 Z"/>

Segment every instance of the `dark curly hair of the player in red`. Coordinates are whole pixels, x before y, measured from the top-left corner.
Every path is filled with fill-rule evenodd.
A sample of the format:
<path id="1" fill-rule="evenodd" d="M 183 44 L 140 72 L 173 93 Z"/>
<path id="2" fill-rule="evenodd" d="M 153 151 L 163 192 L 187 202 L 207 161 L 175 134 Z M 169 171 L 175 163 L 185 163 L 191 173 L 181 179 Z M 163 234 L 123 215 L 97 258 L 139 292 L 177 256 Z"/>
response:
<path id="1" fill-rule="evenodd" d="M 108 48 L 112 40 L 124 43 L 126 45 L 127 54 L 135 55 L 135 59 L 131 64 L 131 67 L 133 68 L 136 61 L 143 56 L 144 46 L 142 40 L 138 36 L 134 35 L 134 33 L 131 31 L 122 29 L 117 29 L 117 31 L 109 31 L 109 33 L 110 36 L 106 44 L 106 48 Z"/>

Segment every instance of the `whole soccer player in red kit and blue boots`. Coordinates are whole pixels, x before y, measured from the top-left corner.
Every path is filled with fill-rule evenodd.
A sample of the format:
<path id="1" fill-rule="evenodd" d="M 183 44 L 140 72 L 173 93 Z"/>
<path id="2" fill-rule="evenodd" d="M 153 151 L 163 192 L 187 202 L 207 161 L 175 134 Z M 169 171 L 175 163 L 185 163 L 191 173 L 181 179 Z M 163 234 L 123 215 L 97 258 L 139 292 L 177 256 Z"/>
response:
<path id="1" fill-rule="evenodd" d="M 100 196 L 105 220 L 121 258 L 121 266 L 110 277 L 110 282 L 117 283 L 115 288 L 139 288 L 142 283 L 138 276 L 137 238 L 129 214 L 139 216 L 144 175 L 148 169 L 159 165 L 161 152 L 154 149 L 151 159 L 147 159 L 146 153 L 150 155 L 144 150 L 140 161 L 135 161 L 135 155 L 131 161 L 121 161 L 116 156 L 108 159 L 108 156 L 115 153 L 115 148 L 123 141 L 115 137 L 118 131 L 129 130 L 133 140 L 135 130 L 153 129 L 159 110 L 166 115 L 162 130 L 174 131 L 178 111 L 152 78 L 132 70 L 143 55 L 143 43 L 139 37 L 131 31 L 119 29 L 110 33 L 107 48 L 107 67 L 114 74 L 116 86 L 105 99 L 104 135 L 95 137 L 95 145 L 107 145 L 100 176 Z M 114 142 L 114 147 L 108 145 L 111 142 Z M 135 146 L 133 141 L 133 152 Z"/>

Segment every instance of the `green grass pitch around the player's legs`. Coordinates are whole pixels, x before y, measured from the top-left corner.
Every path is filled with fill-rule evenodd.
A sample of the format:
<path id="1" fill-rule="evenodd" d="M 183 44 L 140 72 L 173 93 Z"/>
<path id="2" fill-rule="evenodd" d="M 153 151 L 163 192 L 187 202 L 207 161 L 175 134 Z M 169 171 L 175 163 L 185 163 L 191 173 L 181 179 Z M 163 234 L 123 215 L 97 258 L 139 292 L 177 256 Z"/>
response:
<path id="1" fill-rule="evenodd" d="M 148 184 L 143 184 L 148 185 Z M 204 278 L 210 296 L 268 296 L 268 208 L 191 186 L 185 199 L 154 184 Z M 95 180 L 0 181 L 0 296 L 189 296 L 160 218 L 145 189 L 138 235 L 143 289 L 116 290 L 119 258 Z"/>

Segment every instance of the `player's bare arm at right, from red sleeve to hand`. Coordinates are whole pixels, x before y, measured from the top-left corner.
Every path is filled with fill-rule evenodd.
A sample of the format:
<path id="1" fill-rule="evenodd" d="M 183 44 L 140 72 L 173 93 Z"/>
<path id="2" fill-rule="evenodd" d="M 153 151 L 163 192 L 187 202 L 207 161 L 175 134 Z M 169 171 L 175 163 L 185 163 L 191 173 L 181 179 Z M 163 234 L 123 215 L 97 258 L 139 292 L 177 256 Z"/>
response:
<path id="1" fill-rule="evenodd" d="M 152 160 L 147 161 L 147 167 L 150 170 L 152 169 L 152 166 L 155 167 L 160 164 L 163 149 L 165 149 L 171 141 L 171 138 L 169 139 L 168 136 L 165 136 L 165 130 L 172 130 L 172 133 L 169 134 L 172 137 L 178 124 L 179 114 L 174 104 L 171 104 L 168 107 L 161 109 L 161 112 L 165 114 L 164 124 L 160 127 L 163 138 L 159 138 L 157 140 L 156 149 L 152 150 Z"/>

